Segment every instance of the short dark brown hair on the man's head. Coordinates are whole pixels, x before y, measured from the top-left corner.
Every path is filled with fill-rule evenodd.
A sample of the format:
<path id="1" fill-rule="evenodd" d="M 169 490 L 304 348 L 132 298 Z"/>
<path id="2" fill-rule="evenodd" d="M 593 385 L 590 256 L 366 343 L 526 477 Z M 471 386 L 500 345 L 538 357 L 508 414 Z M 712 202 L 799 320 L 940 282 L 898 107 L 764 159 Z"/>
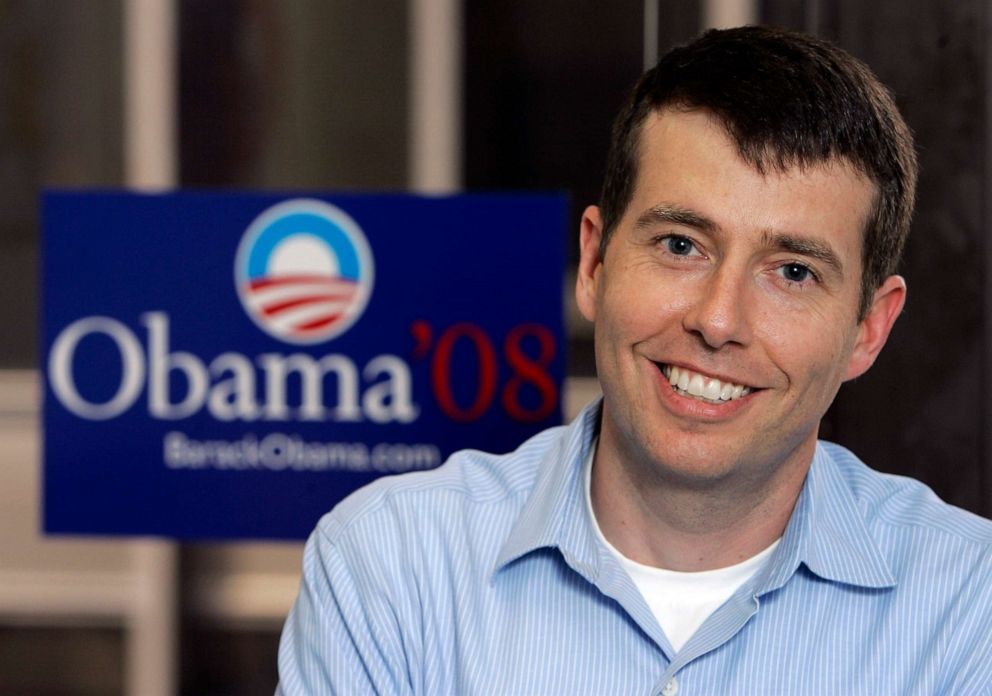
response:
<path id="1" fill-rule="evenodd" d="M 826 41 L 769 27 L 711 30 L 667 53 L 613 125 L 601 251 L 634 195 L 641 126 L 663 107 L 713 114 L 758 171 L 840 158 L 876 187 L 862 239 L 859 316 L 902 257 L 916 195 L 913 136 L 867 65 Z"/>

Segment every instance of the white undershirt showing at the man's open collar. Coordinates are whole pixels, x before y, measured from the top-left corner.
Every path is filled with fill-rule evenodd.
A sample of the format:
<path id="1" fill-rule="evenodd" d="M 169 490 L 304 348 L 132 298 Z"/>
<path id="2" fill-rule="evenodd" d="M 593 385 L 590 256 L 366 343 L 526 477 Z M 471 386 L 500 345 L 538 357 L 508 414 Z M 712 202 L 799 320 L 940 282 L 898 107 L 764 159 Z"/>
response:
<path id="1" fill-rule="evenodd" d="M 730 599 L 738 587 L 758 572 L 778 546 L 779 539 L 773 541 L 771 546 L 758 555 L 737 565 L 697 573 L 655 568 L 632 561 L 603 536 L 599 522 L 596 520 L 596 513 L 593 512 L 591 491 L 594 453 L 595 448 L 592 448 L 585 466 L 586 509 L 589 511 L 592 527 L 599 540 L 617 557 L 620 565 L 630 575 L 630 579 L 644 596 L 661 630 L 668 637 L 672 648 L 678 652 L 707 617 Z"/>

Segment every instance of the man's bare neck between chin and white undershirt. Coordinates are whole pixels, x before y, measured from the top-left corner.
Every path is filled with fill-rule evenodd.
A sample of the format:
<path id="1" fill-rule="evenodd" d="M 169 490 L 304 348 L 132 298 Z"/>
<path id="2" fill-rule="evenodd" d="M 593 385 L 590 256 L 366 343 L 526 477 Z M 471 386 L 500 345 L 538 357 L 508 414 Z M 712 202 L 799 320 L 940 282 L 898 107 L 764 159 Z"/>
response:
<path id="1" fill-rule="evenodd" d="M 804 466 L 780 467 L 763 482 L 685 486 L 616 452 L 601 440 L 593 460 L 590 495 L 603 535 L 638 563 L 690 572 L 734 565 L 781 537 L 812 461 L 810 453 Z"/>

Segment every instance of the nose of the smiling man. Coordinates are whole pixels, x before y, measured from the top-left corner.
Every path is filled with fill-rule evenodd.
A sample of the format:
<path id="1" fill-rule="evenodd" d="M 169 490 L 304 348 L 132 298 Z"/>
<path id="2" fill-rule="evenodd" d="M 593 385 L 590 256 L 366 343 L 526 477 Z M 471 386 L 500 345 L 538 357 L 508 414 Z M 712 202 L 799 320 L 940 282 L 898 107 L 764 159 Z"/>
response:
<path id="1" fill-rule="evenodd" d="M 682 324 L 711 348 L 747 345 L 751 340 L 750 295 L 744 272 L 729 266 L 716 268 L 698 287 Z"/>

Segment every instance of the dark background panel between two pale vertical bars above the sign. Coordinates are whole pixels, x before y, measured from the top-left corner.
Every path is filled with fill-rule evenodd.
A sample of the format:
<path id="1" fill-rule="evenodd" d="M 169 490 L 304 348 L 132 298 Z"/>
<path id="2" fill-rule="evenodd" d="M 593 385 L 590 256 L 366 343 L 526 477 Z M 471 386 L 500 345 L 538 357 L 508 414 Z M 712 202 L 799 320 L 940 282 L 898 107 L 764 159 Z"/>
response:
<path id="1" fill-rule="evenodd" d="M 179 8 L 184 186 L 406 186 L 405 3 Z"/>

